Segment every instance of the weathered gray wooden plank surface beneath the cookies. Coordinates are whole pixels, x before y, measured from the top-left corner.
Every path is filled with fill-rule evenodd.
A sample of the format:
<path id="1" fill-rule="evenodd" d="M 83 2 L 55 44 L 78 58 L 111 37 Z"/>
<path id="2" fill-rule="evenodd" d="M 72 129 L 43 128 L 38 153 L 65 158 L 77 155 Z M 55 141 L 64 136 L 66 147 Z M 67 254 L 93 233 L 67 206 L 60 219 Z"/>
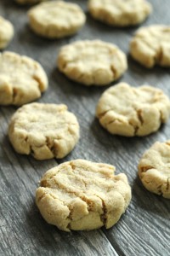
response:
<path id="1" fill-rule="evenodd" d="M 87 1 L 79 3 L 87 12 Z M 154 12 L 145 25 L 170 23 L 170 1 L 150 0 Z M 65 103 L 77 115 L 81 139 L 64 160 L 37 161 L 14 152 L 8 142 L 8 121 L 16 108 L 0 107 L 0 255 L 170 255 L 170 201 L 148 192 L 137 177 L 141 154 L 157 140 L 170 138 L 170 121 L 155 134 L 142 138 L 111 136 L 94 118 L 96 102 L 108 87 L 87 88 L 66 79 L 56 68 L 59 47 L 78 39 L 100 38 L 117 44 L 128 54 L 128 43 L 138 27 L 105 26 L 87 15 L 76 36 L 50 41 L 37 37 L 27 26 L 26 11 L 11 0 L 0 1 L 0 15 L 14 23 L 15 36 L 8 50 L 39 61 L 48 73 L 49 88 L 39 102 Z M 146 70 L 128 57 L 128 71 L 121 81 L 134 86 L 151 84 L 170 96 L 170 71 Z M 116 166 L 127 174 L 133 199 L 127 212 L 110 230 L 67 234 L 46 224 L 35 205 L 35 189 L 48 168 L 65 160 L 87 159 Z"/>

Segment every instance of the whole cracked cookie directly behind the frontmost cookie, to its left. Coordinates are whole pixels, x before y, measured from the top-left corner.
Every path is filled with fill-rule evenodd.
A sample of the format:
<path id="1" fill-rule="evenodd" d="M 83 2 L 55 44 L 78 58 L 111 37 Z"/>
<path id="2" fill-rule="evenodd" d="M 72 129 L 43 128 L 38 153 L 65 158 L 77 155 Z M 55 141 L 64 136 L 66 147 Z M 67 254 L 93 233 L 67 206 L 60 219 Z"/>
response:
<path id="1" fill-rule="evenodd" d="M 8 137 L 16 152 L 37 160 L 63 158 L 77 144 L 79 125 L 65 105 L 31 103 L 11 119 Z"/>

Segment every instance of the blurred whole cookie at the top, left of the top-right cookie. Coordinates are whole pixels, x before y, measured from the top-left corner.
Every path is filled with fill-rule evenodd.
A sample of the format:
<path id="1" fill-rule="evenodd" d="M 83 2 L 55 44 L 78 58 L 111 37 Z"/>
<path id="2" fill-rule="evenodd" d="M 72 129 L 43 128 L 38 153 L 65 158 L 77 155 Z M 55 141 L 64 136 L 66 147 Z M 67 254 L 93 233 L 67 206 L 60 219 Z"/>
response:
<path id="1" fill-rule="evenodd" d="M 33 32 L 45 38 L 71 36 L 82 28 L 86 16 L 75 3 L 40 3 L 28 12 Z"/>

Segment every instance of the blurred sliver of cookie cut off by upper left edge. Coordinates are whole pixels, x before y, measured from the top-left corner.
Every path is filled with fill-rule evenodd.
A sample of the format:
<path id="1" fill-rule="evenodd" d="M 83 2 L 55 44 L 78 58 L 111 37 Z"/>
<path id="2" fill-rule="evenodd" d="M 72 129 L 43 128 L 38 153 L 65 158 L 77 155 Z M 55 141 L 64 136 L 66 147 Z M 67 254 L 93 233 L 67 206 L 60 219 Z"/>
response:
<path id="1" fill-rule="evenodd" d="M 13 37 L 14 26 L 11 22 L 0 16 L 0 49 L 7 47 Z"/>

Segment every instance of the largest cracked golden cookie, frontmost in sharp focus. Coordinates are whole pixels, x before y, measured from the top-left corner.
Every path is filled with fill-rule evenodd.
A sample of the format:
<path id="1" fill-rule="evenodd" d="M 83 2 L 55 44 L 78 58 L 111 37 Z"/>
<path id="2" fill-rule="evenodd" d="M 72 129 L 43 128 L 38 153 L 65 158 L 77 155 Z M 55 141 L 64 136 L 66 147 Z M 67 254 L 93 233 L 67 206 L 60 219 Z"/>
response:
<path id="1" fill-rule="evenodd" d="M 111 228 L 131 200 L 126 175 L 114 172 L 114 166 L 88 160 L 49 170 L 36 192 L 42 217 L 65 231 Z"/>

